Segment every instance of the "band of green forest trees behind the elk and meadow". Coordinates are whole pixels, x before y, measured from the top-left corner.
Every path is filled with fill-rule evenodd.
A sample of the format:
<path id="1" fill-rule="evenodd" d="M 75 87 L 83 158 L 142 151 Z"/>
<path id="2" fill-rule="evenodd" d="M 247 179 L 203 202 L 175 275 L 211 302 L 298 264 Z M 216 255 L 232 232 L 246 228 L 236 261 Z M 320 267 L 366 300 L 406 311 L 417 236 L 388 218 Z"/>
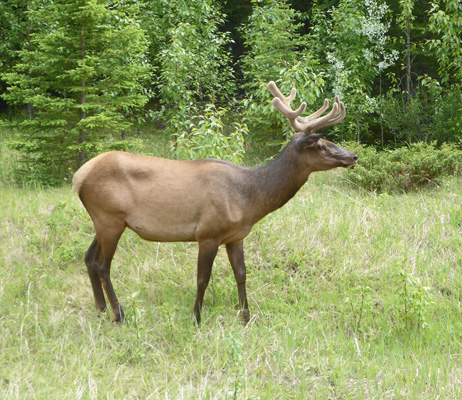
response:
<path id="1" fill-rule="evenodd" d="M 262 145 L 290 134 L 274 80 L 313 110 L 342 98 L 332 140 L 460 146 L 461 11 L 459 0 L 7 0 L 2 131 L 17 172 L 47 184 L 146 132 L 171 137 L 178 158 L 240 162 L 249 131 Z"/>

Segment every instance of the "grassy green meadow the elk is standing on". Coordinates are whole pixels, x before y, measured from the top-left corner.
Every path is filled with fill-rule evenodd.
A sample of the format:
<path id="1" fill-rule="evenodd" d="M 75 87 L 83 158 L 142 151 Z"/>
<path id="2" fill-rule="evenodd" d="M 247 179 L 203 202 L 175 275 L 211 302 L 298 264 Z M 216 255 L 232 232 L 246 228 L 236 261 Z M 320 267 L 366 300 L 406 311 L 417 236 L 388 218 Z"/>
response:
<path id="1" fill-rule="evenodd" d="M 246 326 L 224 249 L 197 327 L 197 245 L 128 230 L 127 322 L 98 316 L 70 184 L 1 185 L 0 398 L 461 398 L 462 180 L 387 195 L 344 172 L 311 175 L 246 239 Z"/>

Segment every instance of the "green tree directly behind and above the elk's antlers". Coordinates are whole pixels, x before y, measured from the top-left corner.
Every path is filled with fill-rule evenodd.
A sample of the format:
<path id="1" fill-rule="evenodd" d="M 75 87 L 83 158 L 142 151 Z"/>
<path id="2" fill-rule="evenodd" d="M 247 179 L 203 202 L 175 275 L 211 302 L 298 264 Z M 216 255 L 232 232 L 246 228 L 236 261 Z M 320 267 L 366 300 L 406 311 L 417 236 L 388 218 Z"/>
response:
<path id="1" fill-rule="evenodd" d="M 322 92 L 324 74 L 316 70 L 308 37 L 299 33 L 300 13 L 285 0 L 253 0 L 252 4 L 252 15 L 241 29 L 248 49 L 241 61 L 247 93 L 242 104 L 252 127 L 274 131 L 288 125 L 273 110 L 267 83 L 275 81 L 285 95 L 296 87 L 299 101 L 311 106 Z"/>

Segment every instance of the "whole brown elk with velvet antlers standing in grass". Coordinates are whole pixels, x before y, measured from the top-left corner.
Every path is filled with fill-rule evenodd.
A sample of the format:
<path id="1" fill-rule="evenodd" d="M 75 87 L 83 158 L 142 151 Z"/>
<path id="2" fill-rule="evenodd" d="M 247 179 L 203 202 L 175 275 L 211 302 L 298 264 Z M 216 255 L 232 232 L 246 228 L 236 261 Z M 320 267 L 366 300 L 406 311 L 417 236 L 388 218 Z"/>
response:
<path id="1" fill-rule="evenodd" d="M 226 246 L 234 272 L 240 315 L 250 320 L 246 296 L 244 238 L 253 225 L 287 203 L 312 172 L 353 166 L 358 156 L 322 139 L 316 131 L 341 122 L 344 104 L 335 98 L 332 110 L 324 105 L 308 117 L 303 102 L 290 106 L 274 82 L 268 89 L 273 105 L 296 133 L 268 164 L 245 168 L 212 159 L 178 161 L 112 151 L 85 163 L 73 186 L 90 215 L 96 236 L 85 254 L 95 303 L 106 310 L 103 289 L 114 320 L 124 320 L 111 278 L 111 262 L 125 228 L 156 242 L 197 242 L 197 293 L 193 314 L 198 324 L 218 247 Z"/>

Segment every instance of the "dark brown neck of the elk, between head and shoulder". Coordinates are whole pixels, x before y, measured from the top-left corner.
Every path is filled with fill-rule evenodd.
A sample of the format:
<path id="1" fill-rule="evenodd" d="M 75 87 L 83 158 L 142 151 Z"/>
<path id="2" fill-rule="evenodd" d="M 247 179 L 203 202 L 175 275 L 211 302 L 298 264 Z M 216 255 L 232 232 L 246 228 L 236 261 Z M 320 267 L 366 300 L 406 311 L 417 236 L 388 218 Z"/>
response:
<path id="1" fill-rule="evenodd" d="M 261 219 L 286 204 L 312 171 L 303 163 L 294 140 L 291 140 L 276 158 L 249 172 L 252 182 L 250 202 L 257 211 L 256 217 Z"/>

